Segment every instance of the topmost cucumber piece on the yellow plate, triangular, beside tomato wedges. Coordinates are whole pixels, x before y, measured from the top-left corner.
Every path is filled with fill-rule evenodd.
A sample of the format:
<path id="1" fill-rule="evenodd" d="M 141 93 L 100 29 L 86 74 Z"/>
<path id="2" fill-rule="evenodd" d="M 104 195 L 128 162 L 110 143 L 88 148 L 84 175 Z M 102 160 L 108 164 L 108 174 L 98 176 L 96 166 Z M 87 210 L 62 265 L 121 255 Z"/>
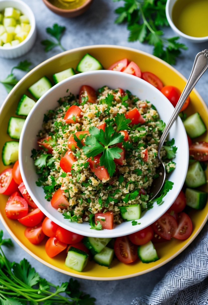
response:
<path id="1" fill-rule="evenodd" d="M 84 55 L 84 57 L 80 60 L 76 68 L 78 72 L 87 72 L 102 69 L 103 66 L 101 65 L 101 63 L 97 59 L 95 59 L 95 57 L 91 56 L 88 53 Z"/>

